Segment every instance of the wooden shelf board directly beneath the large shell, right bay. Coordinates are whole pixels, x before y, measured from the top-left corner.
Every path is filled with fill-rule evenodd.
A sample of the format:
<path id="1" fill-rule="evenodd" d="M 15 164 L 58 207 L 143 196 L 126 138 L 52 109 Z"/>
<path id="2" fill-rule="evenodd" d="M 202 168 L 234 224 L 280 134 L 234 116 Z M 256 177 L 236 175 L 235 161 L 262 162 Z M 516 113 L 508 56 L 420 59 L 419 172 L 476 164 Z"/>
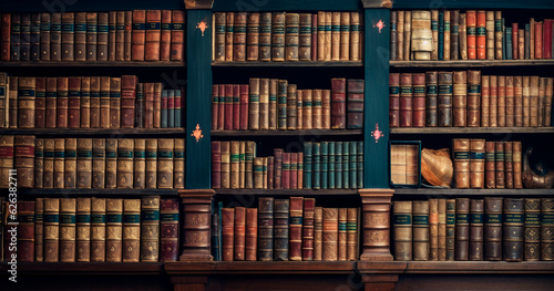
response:
<path id="1" fill-rule="evenodd" d="M 554 195 L 554 189 L 437 189 L 437 188 L 396 188 L 394 195 L 429 195 L 429 196 L 459 196 L 459 195 L 491 195 L 491 196 L 525 196 Z"/>

